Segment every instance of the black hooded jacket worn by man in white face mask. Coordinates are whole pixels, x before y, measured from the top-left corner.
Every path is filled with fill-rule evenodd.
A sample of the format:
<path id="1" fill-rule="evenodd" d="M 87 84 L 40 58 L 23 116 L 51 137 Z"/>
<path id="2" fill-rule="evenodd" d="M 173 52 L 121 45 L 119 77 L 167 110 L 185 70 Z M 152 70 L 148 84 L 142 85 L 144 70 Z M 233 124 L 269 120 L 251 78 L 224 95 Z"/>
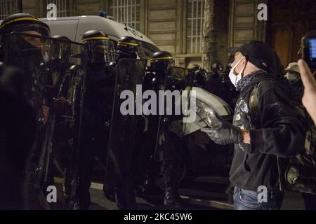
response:
<path id="1" fill-rule="evenodd" d="M 251 144 L 235 144 L 230 181 L 245 190 L 282 190 L 287 162 L 305 143 L 305 123 L 292 103 L 296 96 L 289 85 L 267 76 L 257 72 L 241 88 L 235 108 L 233 125 L 250 130 Z M 249 97 L 258 83 L 255 118 L 249 112 Z"/>

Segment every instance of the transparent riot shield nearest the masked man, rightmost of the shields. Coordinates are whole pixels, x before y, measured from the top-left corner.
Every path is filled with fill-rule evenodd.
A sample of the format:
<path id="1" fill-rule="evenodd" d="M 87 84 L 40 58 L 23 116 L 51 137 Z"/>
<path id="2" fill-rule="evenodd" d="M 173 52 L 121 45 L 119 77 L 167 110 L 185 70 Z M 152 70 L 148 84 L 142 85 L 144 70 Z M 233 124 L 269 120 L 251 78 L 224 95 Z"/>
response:
<path id="1" fill-rule="evenodd" d="M 173 181 L 180 181 L 185 174 L 183 157 L 183 111 L 182 97 L 186 87 L 188 70 L 169 67 L 164 82 L 164 97 L 159 94 L 159 122 L 154 144 L 154 159 L 164 160 L 164 169 L 173 176 Z M 164 105 L 162 107 L 162 105 Z M 163 109 L 163 110 L 162 110 Z M 173 168 L 171 168 L 173 167 Z"/>

